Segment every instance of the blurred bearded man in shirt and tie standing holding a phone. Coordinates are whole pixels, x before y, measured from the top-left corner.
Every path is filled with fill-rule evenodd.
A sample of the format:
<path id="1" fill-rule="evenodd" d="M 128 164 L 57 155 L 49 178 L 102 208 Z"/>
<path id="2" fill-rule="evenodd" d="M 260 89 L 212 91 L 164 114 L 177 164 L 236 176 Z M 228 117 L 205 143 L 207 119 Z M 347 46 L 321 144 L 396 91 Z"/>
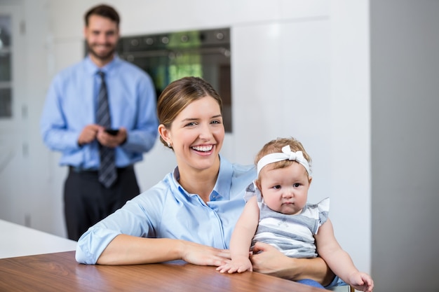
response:
<path id="1" fill-rule="evenodd" d="M 83 33 L 87 57 L 55 76 L 41 116 L 44 143 L 69 167 L 65 221 L 74 240 L 140 193 L 133 165 L 158 127 L 151 78 L 115 54 L 118 13 L 91 8 Z"/>

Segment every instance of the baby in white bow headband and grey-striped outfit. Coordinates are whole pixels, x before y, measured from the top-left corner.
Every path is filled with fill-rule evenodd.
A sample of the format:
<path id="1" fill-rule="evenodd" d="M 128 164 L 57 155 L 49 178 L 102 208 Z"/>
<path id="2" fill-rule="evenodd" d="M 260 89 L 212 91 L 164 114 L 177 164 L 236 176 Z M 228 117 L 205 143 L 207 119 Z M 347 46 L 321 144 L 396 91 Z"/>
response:
<path id="1" fill-rule="evenodd" d="M 231 260 L 217 270 L 251 271 L 249 249 L 255 242 L 265 242 L 292 258 L 311 258 L 318 253 L 347 284 L 372 292 L 370 275 L 357 270 L 335 239 L 328 218 L 329 198 L 307 203 L 311 158 L 302 144 L 293 138 L 270 141 L 255 162 L 257 179 L 246 190 L 248 202 L 231 236 Z"/>

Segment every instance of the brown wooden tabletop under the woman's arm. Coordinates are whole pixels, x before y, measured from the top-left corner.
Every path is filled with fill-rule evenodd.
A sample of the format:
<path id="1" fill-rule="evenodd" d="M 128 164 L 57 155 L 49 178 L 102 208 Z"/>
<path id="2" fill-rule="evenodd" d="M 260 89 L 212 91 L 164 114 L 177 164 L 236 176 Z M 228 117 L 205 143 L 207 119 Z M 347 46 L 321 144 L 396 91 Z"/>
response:
<path id="1" fill-rule="evenodd" d="M 0 259 L 0 291 L 325 291 L 257 272 L 191 264 L 82 265 L 74 251 Z"/>

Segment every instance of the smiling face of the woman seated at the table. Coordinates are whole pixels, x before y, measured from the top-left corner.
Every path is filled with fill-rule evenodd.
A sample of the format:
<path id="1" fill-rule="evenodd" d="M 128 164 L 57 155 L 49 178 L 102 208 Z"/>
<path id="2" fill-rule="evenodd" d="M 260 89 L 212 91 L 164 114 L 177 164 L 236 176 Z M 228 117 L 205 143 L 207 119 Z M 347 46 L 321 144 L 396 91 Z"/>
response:
<path id="1" fill-rule="evenodd" d="M 170 129 L 159 127 L 159 130 L 173 147 L 180 173 L 187 167 L 208 169 L 217 162 L 224 125 L 219 104 L 213 97 L 191 102 L 178 114 Z"/>

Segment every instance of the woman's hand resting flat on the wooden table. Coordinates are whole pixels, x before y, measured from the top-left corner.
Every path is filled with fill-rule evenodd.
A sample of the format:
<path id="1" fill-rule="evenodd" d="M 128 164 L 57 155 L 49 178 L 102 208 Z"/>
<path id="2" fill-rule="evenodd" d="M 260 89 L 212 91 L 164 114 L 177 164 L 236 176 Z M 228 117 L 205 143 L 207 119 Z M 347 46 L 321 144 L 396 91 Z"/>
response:
<path id="1" fill-rule="evenodd" d="M 228 249 L 215 249 L 194 242 L 182 242 L 182 260 L 194 265 L 215 265 L 219 267 L 230 260 Z"/>

